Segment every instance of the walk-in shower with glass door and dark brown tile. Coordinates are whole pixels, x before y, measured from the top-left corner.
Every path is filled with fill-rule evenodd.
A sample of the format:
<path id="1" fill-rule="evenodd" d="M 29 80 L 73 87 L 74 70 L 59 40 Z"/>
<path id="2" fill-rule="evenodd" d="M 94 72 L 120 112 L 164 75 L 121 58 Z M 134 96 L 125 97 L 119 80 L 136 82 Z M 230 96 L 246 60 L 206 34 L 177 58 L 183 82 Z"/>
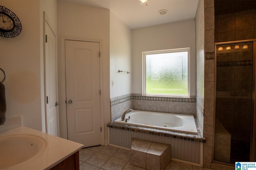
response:
<path id="1" fill-rule="evenodd" d="M 215 43 L 214 161 L 255 161 L 256 40 Z"/>

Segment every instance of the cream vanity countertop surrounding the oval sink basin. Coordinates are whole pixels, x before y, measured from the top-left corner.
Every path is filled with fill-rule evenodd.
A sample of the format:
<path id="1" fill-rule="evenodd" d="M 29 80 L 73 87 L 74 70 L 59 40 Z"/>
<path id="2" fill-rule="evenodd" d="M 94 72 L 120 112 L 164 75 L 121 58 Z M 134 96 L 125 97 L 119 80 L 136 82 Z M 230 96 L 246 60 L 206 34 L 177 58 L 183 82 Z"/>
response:
<path id="1" fill-rule="evenodd" d="M 84 145 L 73 141 L 68 141 L 60 137 L 55 137 L 30 129 L 28 127 L 20 126 L 6 131 L 0 131 L 0 138 L 9 135 L 35 135 L 46 140 L 47 146 L 42 153 L 14 166 L 5 168 L 5 170 L 45 170 L 54 167 L 56 164 L 62 162 L 78 150 L 82 149 Z M 1 151 L 0 151 L 1 152 Z M 1 161 L 1 160 L 0 160 Z"/>

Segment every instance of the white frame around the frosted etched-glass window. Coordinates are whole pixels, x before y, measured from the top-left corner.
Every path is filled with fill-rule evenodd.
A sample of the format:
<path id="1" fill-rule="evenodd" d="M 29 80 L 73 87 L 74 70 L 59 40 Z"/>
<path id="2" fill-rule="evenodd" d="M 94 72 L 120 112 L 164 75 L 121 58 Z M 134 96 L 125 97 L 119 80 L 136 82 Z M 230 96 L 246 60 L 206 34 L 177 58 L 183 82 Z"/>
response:
<path id="1" fill-rule="evenodd" d="M 146 55 L 152 54 L 163 54 L 163 53 L 177 53 L 177 52 L 188 52 L 188 94 L 147 94 L 146 93 Z M 180 98 L 190 98 L 190 47 L 180 48 L 180 49 L 168 49 L 168 50 L 158 50 L 158 51 L 146 51 L 142 52 L 142 95 L 143 96 L 160 96 L 160 97 L 180 97 Z"/>

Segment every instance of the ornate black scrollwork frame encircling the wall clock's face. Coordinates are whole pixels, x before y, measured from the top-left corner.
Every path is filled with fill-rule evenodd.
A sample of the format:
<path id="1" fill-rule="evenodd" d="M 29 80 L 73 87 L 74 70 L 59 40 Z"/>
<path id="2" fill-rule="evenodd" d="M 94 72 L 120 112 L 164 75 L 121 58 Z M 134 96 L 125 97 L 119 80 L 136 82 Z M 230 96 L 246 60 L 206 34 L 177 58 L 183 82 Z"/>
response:
<path id="1" fill-rule="evenodd" d="M 11 10 L 4 6 L 0 6 L 0 14 L 5 14 L 6 16 L 10 17 L 10 19 L 14 22 L 14 27 L 10 30 L 5 30 L 0 28 L 0 36 L 6 38 L 16 37 L 20 34 L 22 26 L 20 19 L 14 14 Z"/>

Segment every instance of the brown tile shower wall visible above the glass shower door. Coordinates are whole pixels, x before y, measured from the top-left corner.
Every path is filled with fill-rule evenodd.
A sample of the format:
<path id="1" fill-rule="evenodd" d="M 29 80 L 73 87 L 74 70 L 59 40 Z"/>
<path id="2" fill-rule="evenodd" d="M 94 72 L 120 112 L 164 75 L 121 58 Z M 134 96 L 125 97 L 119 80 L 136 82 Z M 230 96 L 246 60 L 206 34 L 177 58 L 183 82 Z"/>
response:
<path id="1" fill-rule="evenodd" d="M 215 42 L 256 38 L 256 9 L 215 16 Z"/>

